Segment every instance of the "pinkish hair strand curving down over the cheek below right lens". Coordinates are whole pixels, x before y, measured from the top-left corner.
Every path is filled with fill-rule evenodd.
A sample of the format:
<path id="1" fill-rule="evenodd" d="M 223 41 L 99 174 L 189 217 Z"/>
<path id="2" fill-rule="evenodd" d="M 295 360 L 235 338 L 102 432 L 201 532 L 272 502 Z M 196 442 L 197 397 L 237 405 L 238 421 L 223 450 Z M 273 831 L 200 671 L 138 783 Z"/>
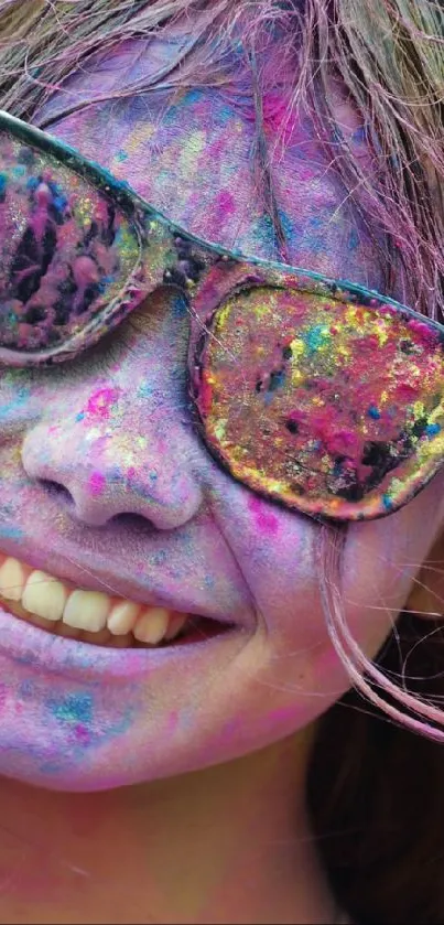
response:
<path id="1" fill-rule="evenodd" d="M 340 588 L 337 581 L 339 574 L 339 557 L 344 545 L 345 534 L 333 533 L 331 527 L 323 526 L 318 546 L 318 567 L 321 594 L 324 604 L 326 624 L 329 637 L 337 655 L 343 662 L 350 681 L 362 696 L 373 703 L 379 710 L 394 720 L 398 724 L 411 729 L 413 732 L 433 739 L 436 742 L 444 742 L 444 730 L 436 729 L 429 722 L 415 719 L 409 712 L 398 709 L 383 699 L 375 688 L 366 680 L 365 675 L 371 679 L 372 685 L 378 686 L 393 700 L 402 703 L 418 716 L 444 725 L 444 711 L 434 707 L 405 690 L 401 690 L 388 676 L 382 673 L 359 648 L 351 635 L 345 619 L 344 604 Z"/>

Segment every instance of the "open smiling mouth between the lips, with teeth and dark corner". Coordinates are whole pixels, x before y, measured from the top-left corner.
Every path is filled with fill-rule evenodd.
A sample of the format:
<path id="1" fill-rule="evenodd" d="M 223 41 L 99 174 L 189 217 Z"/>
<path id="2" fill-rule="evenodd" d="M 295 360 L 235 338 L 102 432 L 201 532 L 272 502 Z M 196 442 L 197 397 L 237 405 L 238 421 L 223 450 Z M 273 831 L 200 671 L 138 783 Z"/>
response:
<path id="1" fill-rule="evenodd" d="M 189 645 L 236 628 L 208 616 L 77 588 L 4 555 L 0 555 L 0 606 L 53 636 L 105 648 Z"/>

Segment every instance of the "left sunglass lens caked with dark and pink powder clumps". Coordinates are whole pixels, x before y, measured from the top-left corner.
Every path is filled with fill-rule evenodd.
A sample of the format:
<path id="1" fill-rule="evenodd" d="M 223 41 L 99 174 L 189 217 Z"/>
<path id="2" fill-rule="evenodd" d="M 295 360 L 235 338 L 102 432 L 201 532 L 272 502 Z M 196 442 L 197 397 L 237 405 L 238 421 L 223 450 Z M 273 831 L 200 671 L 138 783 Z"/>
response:
<path id="1" fill-rule="evenodd" d="M 0 223 L 0 362 L 106 326 L 104 306 L 128 295 L 140 244 L 105 190 L 1 132 Z"/>

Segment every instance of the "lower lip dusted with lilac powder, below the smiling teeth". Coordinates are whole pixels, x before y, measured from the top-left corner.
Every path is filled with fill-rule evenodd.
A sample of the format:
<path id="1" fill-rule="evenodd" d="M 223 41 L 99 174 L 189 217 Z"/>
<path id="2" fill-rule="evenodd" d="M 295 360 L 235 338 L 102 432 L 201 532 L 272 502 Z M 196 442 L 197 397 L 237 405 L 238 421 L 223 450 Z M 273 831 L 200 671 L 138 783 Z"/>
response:
<path id="1" fill-rule="evenodd" d="M 64 636 L 46 633 L 32 623 L 20 620 L 0 609 L 0 656 L 7 656 L 18 664 L 64 678 L 83 681 L 97 680 L 100 676 L 116 680 L 131 680 L 147 676 L 151 668 L 167 662 L 189 660 L 189 649 L 201 653 L 208 646 L 226 645 L 228 638 L 243 632 L 229 626 L 207 639 L 191 638 L 186 645 L 170 645 L 164 648 L 107 648 L 88 645 Z"/>

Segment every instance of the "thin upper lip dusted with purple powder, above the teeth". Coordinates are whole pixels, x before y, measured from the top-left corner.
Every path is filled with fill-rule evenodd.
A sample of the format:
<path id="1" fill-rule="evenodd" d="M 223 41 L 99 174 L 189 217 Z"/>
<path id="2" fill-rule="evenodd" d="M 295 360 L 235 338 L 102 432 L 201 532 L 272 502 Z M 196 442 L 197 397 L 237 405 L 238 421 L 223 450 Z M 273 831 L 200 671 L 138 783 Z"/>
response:
<path id="1" fill-rule="evenodd" d="M 53 564 L 52 561 L 44 560 L 41 552 L 31 548 L 26 549 L 26 555 L 24 557 L 22 550 L 15 551 L 12 548 L 6 549 L 2 544 L 0 552 L 2 552 L 3 556 L 12 556 L 20 561 L 25 562 L 33 569 L 45 571 L 48 574 L 54 576 L 54 578 L 58 578 L 61 581 L 67 581 L 76 588 L 82 588 L 86 591 L 102 591 L 110 596 L 123 598 L 144 606 L 165 607 L 166 610 L 177 611 L 180 613 L 193 614 L 195 616 L 206 616 L 227 625 L 234 625 L 237 623 L 245 628 L 251 627 L 251 615 L 248 620 L 247 609 L 245 609 L 242 613 L 236 612 L 227 614 L 226 612 L 219 610 L 217 603 L 212 602 L 212 605 L 206 605 L 201 601 L 198 607 L 196 607 L 193 606 L 192 600 L 177 600 L 166 590 L 162 589 L 159 591 L 156 589 L 150 593 L 149 589 L 145 587 L 141 588 L 130 579 L 119 578 L 115 573 L 112 573 L 112 578 L 110 579 L 109 568 L 107 568 L 107 576 L 101 577 L 100 568 L 96 568 L 95 571 L 91 571 L 88 566 L 84 566 L 79 561 L 73 562 L 71 559 L 68 560 L 58 553 L 57 564 Z"/>

